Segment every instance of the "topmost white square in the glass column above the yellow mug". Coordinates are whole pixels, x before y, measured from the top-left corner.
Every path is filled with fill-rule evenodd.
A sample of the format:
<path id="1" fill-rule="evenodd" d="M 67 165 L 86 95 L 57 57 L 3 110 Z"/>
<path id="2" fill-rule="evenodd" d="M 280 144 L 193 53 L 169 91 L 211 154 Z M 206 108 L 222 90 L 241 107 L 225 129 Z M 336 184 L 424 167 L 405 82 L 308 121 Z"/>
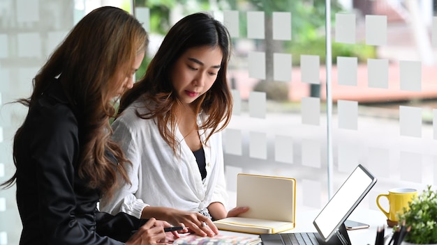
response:
<path id="1" fill-rule="evenodd" d="M 422 90 L 422 65 L 420 61 L 399 61 L 401 90 Z"/>

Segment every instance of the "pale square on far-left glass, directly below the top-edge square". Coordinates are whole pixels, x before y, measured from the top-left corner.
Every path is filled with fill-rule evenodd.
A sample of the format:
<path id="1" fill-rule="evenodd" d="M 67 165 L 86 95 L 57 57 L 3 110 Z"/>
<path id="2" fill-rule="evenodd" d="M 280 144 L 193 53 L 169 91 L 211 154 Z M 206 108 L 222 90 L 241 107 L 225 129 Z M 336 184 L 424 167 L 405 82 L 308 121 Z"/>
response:
<path id="1" fill-rule="evenodd" d="M 18 56 L 40 58 L 42 57 L 42 46 L 40 33 L 18 33 L 17 34 Z"/>

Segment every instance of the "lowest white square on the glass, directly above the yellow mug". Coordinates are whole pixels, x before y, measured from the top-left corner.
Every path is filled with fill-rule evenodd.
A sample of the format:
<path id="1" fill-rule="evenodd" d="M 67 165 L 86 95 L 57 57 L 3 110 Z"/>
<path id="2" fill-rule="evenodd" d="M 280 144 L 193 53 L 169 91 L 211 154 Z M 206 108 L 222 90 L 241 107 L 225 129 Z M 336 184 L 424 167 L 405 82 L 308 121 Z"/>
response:
<path id="1" fill-rule="evenodd" d="M 400 152 L 399 174 L 401 181 L 422 183 L 422 155 L 415 152 Z"/>

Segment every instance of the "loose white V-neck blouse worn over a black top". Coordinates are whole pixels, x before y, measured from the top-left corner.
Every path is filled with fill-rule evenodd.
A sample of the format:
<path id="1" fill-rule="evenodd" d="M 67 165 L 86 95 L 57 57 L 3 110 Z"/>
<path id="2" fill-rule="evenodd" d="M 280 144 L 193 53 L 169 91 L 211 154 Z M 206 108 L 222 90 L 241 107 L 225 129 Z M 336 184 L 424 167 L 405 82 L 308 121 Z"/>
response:
<path id="1" fill-rule="evenodd" d="M 202 182 L 197 161 L 184 141 L 179 129 L 178 153 L 164 141 L 153 119 L 139 118 L 135 111 L 147 111 L 142 102 L 128 106 L 121 117 L 112 123 L 112 139 L 119 143 L 132 162 L 128 166 L 131 185 L 123 184 L 114 192 L 112 200 L 103 200 L 103 212 L 117 214 L 126 212 L 141 217 L 144 207 L 173 207 L 189 212 L 199 212 L 214 202 L 226 207 L 228 195 L 225 187 L 223 166 L 223 146 L 221 133 L 213 134 L 205 150 L 207 177 Z M 198 116 L 198 125 L 205 115 Z M 200 139 L 205 141 L 205 132 L 199 131 Z"/>

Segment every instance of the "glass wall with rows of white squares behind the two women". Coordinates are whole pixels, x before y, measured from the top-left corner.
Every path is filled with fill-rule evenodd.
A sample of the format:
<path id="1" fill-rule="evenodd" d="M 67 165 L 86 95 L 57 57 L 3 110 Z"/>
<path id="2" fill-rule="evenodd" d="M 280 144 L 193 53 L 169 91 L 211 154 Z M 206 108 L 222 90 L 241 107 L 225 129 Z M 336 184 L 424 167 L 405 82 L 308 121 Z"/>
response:
<path id="1" fill-rule="evenodd" d="M 151 36 L 138 75 L 184 15 L 208 11 L 228 26 L 234 97 L 223 132 L 228 207 L 235 206 L 237 173 L 294 177 L 297 212 L 323 207 L 329 186 L 336 191 L 357 164 L 378 177 L 364 208 L 377 209 L 378 193 L 392 187 L 437 182 L 434 1 L 327 2 L 328 18 L 325 1 L 135 1 Z M 115 3 L 0 1 L 0 181 L 15 171 L 12 139 L 27 112 L 8 102 L 30 94 L 45 58 L 78 19 L 102 5 Z M 0 244 L 17 244 L 20 232 L 15 187 L 2 190 Z"/>

